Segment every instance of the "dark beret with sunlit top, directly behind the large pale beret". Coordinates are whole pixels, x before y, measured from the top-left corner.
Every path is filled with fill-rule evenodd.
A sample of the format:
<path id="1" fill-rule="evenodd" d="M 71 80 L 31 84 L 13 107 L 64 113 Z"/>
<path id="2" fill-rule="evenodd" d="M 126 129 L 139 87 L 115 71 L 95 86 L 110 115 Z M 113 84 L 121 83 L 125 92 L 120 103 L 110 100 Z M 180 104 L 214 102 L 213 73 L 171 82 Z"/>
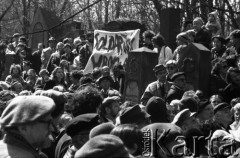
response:
<path id="1" fill-rule="evenodd" d="M 55 102 L 56 107 L 52 112 L 53 117 L 57 117 L 59 114 L 63 113 L 64 105 L 67 102 L 67 99 L 62 92 L 50 89 L 47 91 L 42 91 L 41 95 L 52 98 Z"/>

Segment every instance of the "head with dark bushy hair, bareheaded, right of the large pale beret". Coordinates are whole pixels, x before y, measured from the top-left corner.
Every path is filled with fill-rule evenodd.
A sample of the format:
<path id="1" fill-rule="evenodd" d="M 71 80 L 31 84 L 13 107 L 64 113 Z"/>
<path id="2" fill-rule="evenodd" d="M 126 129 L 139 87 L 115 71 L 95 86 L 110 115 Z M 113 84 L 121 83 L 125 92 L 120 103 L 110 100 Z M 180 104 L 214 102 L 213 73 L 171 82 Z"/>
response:
<path id="1" fill-rule="evenodd" d="M 85 113 L 96 113 L 102 101 L 101 92 L 92 85 L 86 85 L 74 93 L 72 114 L 77 116 Z"/>

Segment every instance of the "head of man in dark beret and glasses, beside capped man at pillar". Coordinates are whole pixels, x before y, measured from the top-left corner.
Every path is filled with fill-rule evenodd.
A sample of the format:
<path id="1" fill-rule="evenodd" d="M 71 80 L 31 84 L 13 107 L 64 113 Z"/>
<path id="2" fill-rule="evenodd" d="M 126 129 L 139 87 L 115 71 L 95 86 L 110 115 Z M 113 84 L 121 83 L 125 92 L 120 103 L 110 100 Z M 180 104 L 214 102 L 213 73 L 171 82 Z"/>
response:
<path id="1" fill-rule="evenodd" d="M 176 72 L 172 75 L 173 84 L 181 89 L 186 85 L 186 75 L 184 72 Z"/>

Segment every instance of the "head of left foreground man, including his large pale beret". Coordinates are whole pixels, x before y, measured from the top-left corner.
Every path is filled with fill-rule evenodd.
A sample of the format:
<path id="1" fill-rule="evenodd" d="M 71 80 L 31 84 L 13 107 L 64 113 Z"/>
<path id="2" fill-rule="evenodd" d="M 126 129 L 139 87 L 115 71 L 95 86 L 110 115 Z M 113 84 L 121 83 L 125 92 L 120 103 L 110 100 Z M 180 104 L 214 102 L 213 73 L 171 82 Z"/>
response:
<path id="1" fill-rule="evenodd" d="M 54 101 L 48 97 L 18 96 L 3 111 L 0 124 L 6 134 L 20 135 L 33 148 L 50 147 L 54 108 Z"/>

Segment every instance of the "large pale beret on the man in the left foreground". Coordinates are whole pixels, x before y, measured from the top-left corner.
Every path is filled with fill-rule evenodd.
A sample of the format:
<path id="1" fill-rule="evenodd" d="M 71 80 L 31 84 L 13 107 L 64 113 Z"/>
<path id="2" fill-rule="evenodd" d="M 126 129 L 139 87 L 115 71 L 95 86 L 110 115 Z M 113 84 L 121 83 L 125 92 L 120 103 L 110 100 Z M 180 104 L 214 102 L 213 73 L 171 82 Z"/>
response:
<path id="1" fill-rule="evenodd" d="M 37 122 L 52 113 L 55 103 L 45 96 L 18 96 L 2 113 L 0 124 L 12 127 Z"/>

